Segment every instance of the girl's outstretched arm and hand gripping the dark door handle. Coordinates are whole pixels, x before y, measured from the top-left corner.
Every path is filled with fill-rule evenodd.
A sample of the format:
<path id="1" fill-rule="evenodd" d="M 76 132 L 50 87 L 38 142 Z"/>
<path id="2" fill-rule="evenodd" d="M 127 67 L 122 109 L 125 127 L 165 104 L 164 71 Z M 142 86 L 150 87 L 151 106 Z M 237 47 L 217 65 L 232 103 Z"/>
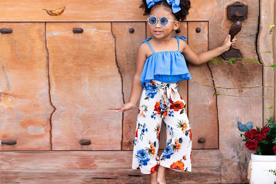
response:
<path id="1" fill-rule="evenodd" d="M 182 54 L 184 55 L 185 60 L 187 60 L 188 62 L 194 65 L 200 65 L 203 63 L 207 63 L 210 59 L 213 59 L 222 54 L 223 52 L 227 51 L 231 45 L 234 45 L 236 43 L 236 40 L 236 36 L 234 36 L 232 40 L 233 42 L 230 42 L 230 35 L 228 35 L 224 40 L 223 44 L 219 47 L 198 54 L 194 53 L 194 51 L 190 49 L 188 44 L 185 41 L 183 41 L 184 49 L 182 51 Z"/>

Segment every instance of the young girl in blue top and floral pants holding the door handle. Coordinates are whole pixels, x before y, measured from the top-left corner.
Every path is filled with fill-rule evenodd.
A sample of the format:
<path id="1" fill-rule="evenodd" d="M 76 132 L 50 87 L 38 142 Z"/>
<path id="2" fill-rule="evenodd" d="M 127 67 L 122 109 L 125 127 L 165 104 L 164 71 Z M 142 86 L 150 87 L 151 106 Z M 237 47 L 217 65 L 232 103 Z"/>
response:
<path id="1" fill-rule="evenodd" d="M 192 132 L 186 103 L 178 93 L 178 81 L 191 79 L 186 61 L 194 65 L 206 63 L 234 45 L 236 36 L 230 42 L 228 35 L 221 46 L 196 54 L 183 41 L 187 40 L 185 36 L 172 36 L 179 21 L 189 13 L 189 0 L 142 0 L 140 8 L 148 15 L 147 25 L 153 37 L 144 40 L 137 50 L 129 102 L 107 109 L 124 113 L 135 108 L 140 98 L 131 170 L 151 174 L 151 184 L 165 184 L 166 167 L 191 171 Z M 159 157 L 162 119 L 167 147 Z"/>

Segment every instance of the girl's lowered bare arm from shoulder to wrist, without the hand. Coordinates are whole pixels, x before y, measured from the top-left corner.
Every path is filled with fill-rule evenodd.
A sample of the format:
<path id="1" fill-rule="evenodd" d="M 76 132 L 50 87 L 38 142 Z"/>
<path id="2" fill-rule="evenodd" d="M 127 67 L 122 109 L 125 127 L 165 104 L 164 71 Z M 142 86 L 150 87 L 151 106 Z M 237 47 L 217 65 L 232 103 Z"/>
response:
<path id="1" fill-rule="evenodd" d="M 146 47 L 148 47 L 147 43 L 143 43 L 137 49 L 136 71 L 132 79 L 131 94 L 129 97 L 129 102 L 134 105 L 136 105 L 137 101 L 139 100 L 143 88 L 143 86 L 141 85 L 140 77 L 144 68 L 145 61 L 147 59 L 147 55 L 145 52 Z"/>

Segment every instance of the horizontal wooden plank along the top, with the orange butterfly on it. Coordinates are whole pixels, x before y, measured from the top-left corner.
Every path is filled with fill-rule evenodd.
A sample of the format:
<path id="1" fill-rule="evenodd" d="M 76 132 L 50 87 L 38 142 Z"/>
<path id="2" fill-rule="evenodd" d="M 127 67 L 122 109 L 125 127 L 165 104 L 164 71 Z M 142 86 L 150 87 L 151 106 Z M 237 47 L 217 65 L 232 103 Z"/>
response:
<path id="1" fill-rule="evenodd" d="M 144 10 L 139 8 L 141 1 L 117 0 L 48 0 L 48 1 L 0 1 L 0 21 L 146 21 Z M 46 10 L 55 10 L 65 6 L 63 13 L 58 16 L 50 16 Z M 208 20 L 212 16 L 212 10 L 217 7 L 214 0 L 193 1 L 187 21 Z"/>

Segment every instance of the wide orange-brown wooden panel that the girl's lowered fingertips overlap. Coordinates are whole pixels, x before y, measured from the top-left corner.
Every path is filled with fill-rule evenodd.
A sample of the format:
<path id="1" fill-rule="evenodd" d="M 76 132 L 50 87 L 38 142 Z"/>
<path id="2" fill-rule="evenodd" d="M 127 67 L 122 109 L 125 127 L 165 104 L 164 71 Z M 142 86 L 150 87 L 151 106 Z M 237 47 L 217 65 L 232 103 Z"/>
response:
<path id="1" fill-rule="evenodd" d="M 122 114 L 105 109 L 122 103 L 114 41 L 110 22 L 46 23 L 53 150 L 121 150 Z"/>

